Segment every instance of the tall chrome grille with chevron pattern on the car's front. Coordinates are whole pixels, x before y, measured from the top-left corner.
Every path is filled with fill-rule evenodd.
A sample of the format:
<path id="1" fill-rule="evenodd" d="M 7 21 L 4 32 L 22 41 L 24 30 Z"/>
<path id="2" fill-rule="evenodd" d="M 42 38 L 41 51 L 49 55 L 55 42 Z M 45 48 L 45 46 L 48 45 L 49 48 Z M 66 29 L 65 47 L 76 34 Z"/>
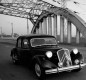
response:
<path id="1" fill-rule="evenodd" d="M 62 63 L 61 67 L 68 67 L 72 65 L 72 61 L 68 49 L 61 49 L 57 51 L 57 56 L 59 59 L 59 63 Z"/>

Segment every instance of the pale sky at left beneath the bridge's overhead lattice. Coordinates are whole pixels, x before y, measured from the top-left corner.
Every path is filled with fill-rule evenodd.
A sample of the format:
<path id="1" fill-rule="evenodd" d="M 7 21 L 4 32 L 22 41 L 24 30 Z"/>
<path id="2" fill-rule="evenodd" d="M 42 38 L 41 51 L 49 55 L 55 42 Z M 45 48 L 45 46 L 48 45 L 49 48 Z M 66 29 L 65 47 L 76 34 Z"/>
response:
<path id="1" fill-rule="evenodd" d="M 27 34 L 27 19 L 0 14 L 0 27 L 2 27 L 3 33 L 8 35 L 12 33 L 12 23 L 14 33 L 19 35 Z M 32 24 L 30 21 L 28 21 L 28 24 L 31 31 Z"/>

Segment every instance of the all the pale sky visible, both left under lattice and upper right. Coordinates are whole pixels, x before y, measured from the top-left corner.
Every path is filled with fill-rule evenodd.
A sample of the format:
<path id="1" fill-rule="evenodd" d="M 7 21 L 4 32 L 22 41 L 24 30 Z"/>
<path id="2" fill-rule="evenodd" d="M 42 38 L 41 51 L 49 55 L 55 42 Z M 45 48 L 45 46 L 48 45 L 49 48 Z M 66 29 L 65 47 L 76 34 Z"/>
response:
<path id="1" fill-rule="evenodd" d="M 46 1 L 52 3 L 52 0 Z M 78 3 L 74 4 L 74 1 Z M 53 4 L 57 5 L 56 3 Z M 86 0 L 70 0 L 67 2 L 67 7 L 72 11 L 78 12 L 76 14 L 86 22 Z M 0 14 L 0 27 L 2 27 L 3 33 L 8 35 L 12 33 L 12 23 L 14 33 L 18 33 L 19 35 L 27 34 L 27 19 Z M 29 31 L 31 31 L 33 25 L 30 21 L 28 23 L 30 26 Z"/>

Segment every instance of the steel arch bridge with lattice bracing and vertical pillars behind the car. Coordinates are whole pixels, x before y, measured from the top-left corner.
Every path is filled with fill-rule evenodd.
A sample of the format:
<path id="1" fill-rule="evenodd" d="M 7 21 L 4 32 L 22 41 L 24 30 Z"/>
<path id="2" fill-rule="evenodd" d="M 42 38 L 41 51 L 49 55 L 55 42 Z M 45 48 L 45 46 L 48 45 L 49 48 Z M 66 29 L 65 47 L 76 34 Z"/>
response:
<path id="1" fill-rule="evenodd" d="M 76 26 L 76 43 L 79 43 L 80 33 L 86 38 L 86 24 L 78 15 L 68 8 L 57 7 L 44 0 L 0 0 L 0 14 L 29 19 L 33 23 L 31 33 L 54 36 L 57 36 L 57 17 L 59 16 L 60 42 L 64 42 L 65 19 L 68 43 L 71 43 L 72 24 Z"/>

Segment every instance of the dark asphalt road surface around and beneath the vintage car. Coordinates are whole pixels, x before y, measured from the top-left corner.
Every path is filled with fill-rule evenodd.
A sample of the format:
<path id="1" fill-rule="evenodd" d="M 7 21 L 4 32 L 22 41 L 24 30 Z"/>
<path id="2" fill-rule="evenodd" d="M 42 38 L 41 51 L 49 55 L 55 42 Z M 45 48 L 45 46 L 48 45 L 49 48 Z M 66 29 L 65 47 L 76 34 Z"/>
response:
<path id="1" fill-rule="evenodd" d="M 64 46 L 62 46 L 64 47 Z M 74 47 L 66 46 L 69 49 Z M 0 44 L 0 80 L 38 80 L 25 65 L 14 65 L 10 58 L 10 51 L 13 45 Z M 78 47 L 85 57 L 86 62 L 86 48 Z M 46 80 L 86 80 L 86 67 L 80 72 L 65 72 L 60 74 L 48 75 Z"/>

